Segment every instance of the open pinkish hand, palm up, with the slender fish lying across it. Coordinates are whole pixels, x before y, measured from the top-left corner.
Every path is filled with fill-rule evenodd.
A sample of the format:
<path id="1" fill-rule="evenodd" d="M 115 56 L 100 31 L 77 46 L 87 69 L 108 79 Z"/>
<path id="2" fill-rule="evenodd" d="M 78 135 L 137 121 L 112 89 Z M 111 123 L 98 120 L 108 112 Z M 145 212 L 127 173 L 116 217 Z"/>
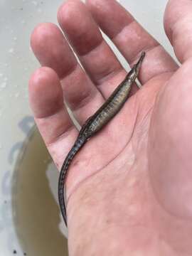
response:
<path id="1" fill-rule="evenodd" d="M 59 170 L 78 135 L 63 98 L 83 124 L 126 75 L 98 26 L 130 66 L 146 51 L 142 89 L 134 85 L 119 114 L 70 166 L 70 256 L 192 255 L 191 13 L 191 0 L 169 0 L 164 14 L 180 68 L 114 0 L 66 1 L 60 28 L 43 23 L 31 35 L 43 66 L 29 82 L 31 108 Z"/>

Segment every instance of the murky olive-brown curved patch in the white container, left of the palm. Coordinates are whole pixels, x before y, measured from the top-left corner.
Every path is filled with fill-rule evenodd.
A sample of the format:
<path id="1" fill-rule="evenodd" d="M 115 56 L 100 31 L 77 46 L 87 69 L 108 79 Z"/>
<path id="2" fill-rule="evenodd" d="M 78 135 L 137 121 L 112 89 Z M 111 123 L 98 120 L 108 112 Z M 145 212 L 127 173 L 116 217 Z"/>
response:
<path id="1" fill-rule="evenodd" d="M 67 256 L 67 240 L 59 229 L 60 210 L 46 175 L 48 164 L 46 146 L 33 129 L 14 171 L 12 206 L 16 233 L 26 255 Z M 53 176 L 58 181 L 56 169 Z"/>

